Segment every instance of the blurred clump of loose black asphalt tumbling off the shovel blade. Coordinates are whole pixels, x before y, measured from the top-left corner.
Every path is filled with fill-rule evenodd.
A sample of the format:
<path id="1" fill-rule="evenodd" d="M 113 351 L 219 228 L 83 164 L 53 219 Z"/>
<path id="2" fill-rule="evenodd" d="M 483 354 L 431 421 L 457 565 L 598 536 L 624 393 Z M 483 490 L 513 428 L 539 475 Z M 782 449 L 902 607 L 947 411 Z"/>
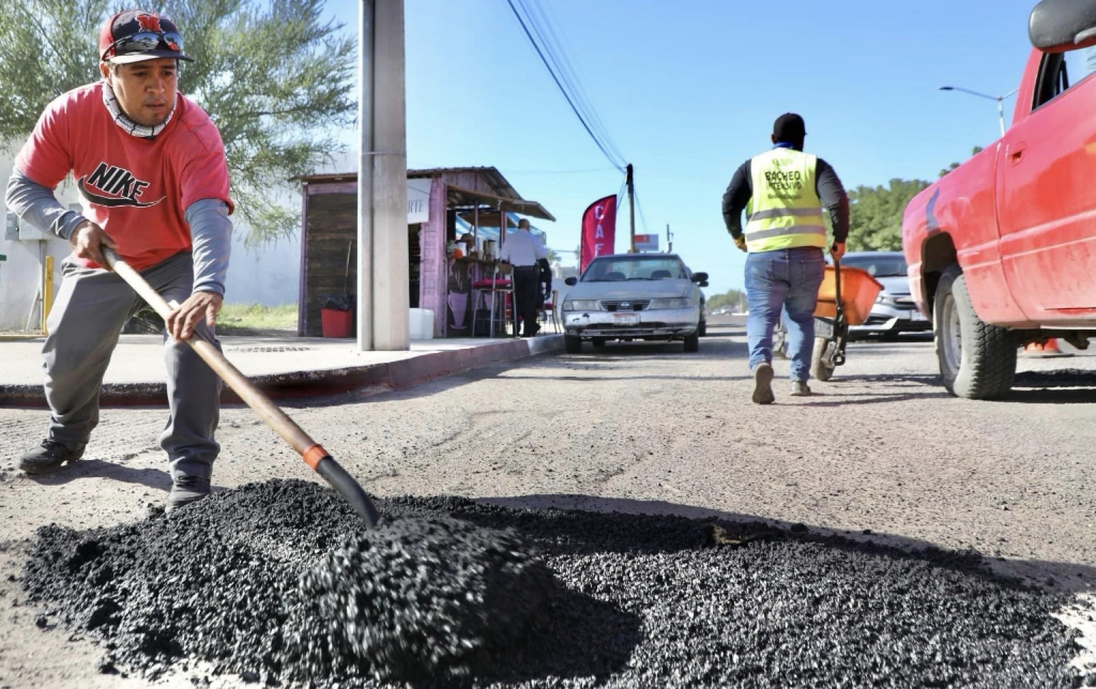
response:
<path id="1" fill-rule="evenodd" d="M 468 674 L 525 631 L 550 586 L 544 563 L 504 531 L 401 519 L 347 539 L 304 573 L 285 625 L 299 659 L 284 676 Z"/>

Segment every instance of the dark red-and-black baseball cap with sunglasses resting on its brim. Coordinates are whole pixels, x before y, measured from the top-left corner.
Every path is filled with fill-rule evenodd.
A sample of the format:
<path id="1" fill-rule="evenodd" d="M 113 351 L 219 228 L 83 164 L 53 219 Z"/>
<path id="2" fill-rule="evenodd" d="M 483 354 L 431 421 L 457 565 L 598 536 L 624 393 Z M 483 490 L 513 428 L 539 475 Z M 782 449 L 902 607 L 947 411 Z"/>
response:
<path id="1" fill-rule="evenodd" d="M 100 59 L 117 65 L 173 57 L 193 62 L 183 54 L 183 35 L 168 16 L 144 10 L 118 12 L 99 32 Z"/>

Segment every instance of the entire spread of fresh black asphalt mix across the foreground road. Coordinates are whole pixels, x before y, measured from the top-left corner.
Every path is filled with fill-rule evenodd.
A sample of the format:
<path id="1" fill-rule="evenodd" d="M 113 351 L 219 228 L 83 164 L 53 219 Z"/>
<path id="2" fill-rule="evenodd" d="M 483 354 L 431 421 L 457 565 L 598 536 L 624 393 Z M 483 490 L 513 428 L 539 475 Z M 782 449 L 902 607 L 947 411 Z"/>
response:
<path id="1" fill-rule="evenodd" d="M 104 671 L 171 669 L 195 681 L 1089 681 L 1069 669 L 1075 632 L 1051 617 L 1068 598 L 995 578 L 977 553 L 904 552 L 798 525 L 456 497 L 376 503 L 388 524 L 376 532 L 334 492 L 295 481 L 220 493 L 169 519 L 85 532 L 46 527 L 23 584 L 47 606 L 39 623 L 106 647 Z"/>

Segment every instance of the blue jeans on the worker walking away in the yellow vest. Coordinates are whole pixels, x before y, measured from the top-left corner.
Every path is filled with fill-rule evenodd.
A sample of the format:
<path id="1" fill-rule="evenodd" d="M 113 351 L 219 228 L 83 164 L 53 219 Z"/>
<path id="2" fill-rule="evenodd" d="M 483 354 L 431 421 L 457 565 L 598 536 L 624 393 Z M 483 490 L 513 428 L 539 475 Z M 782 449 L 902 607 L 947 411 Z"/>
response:
<path id="1" fill-rule="evenodd" d="M 814 351 L 814 305 L 825 275 L 821 249 L 802 246 L 746 256 L 746 340 L 750 369 L 773 361 L 773 329 L 784 310 L 791 380 L 810 377 Z"/>

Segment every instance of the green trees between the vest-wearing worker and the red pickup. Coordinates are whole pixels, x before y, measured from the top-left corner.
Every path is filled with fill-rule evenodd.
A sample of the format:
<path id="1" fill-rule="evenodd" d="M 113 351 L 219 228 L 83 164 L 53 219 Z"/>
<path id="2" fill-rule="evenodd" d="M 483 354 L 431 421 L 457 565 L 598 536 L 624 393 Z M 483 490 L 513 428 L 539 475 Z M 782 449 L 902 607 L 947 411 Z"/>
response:
<path id="1" fill-rule="evenodd" d="M 901 251 L 902 214 L 926 188 L 921 180 L 891 180 L 888 186 L 858 186 L 848 193 L 847 251 Z"/>

